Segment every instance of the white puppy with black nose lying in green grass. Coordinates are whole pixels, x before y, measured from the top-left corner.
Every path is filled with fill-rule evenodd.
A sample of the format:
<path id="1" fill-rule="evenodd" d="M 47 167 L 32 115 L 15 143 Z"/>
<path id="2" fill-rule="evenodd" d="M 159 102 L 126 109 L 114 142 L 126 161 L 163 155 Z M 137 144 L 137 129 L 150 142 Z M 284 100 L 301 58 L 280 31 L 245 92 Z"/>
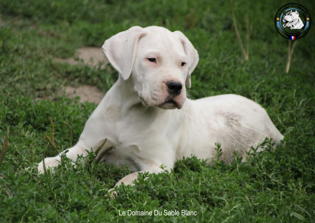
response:
<path id="1" fill-rule="evenodd" d="M 186 99 L 186 87 L 198 63 L 198 53 L 180 31 L 163 27 L 131 27 L 106 40 L 102 47 L 119 78 L 85 124 L 78 143 L 66 156 L 111 146 L 101 161 L 128 165 L 134 172 L 116 185 L 132 184 L 139 172 L 167 170 L 177 159 L 196 155 L 215 157 L 221 143 L 226 162 L 233 151 L 243 157 L 250 146 L 271 137 L 277 144 L 283 135 L 265 109 L 242 96 L 226 94 L 199 100 Z M 45 158 L 46 167 L 60 163 L 60 155 Z M 43 173 L 43 161 L 38 165 Z"/>

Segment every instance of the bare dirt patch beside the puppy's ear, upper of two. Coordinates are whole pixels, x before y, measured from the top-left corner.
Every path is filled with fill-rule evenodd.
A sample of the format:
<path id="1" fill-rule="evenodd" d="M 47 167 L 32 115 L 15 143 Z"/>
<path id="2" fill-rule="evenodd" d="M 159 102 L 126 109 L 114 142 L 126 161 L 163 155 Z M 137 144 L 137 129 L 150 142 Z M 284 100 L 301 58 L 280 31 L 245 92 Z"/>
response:
<path id="1" fill-rule="evenodd" d="M 84 64 L 91 67 L 100 66 L 100 69 L 104 69 L 108 64 L 105 54 L 99 47 L 81 47 L 77 49 L 76 53 L 71 58 L 54 58 L 53 60 L 57 62 L 69 63 L 71 65 Z"/>

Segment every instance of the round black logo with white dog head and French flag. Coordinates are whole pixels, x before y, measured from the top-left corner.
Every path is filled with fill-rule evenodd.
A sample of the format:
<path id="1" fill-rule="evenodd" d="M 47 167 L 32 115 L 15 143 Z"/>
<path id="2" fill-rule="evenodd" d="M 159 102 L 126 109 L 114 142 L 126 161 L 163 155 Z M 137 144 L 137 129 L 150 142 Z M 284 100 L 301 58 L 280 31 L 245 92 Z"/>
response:
<path id="1" fill-rule="evenodd" d="M 282 6 L 275 16 L 278 33 L 287 39 L 300 39 L 311 27 L 311 15 L 307 9 L 296 3 Z"/>

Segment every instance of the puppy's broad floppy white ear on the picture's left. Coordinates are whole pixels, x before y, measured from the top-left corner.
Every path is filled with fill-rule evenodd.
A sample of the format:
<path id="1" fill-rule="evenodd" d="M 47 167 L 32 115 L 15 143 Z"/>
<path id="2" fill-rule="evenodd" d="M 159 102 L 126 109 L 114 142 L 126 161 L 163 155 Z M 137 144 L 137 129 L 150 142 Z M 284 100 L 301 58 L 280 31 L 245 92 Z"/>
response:
<path id="1" fill-rule="evenodd" d="M 124 80 L 127 80 L 131 74 L 139 39 L 145 35 L 143 28 L 133 26 L 107 39 L 102 46 L 108 61 Z"/>

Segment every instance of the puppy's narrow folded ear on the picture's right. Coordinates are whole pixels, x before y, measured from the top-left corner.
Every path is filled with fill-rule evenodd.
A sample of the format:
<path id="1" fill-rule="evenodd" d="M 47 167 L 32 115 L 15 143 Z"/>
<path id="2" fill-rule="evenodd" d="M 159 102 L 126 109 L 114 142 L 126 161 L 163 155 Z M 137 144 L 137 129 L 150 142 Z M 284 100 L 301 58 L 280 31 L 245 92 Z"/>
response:
<path id="1" fill-rule="evenodd" d="M 175 31 L 174 33 L 179 37 L 180 42 L 183 44 L 185 54 L 188 57 L 188 73 L 186 77 L 186 84 L 187 87 L 190 88 L 192 85 L 190 76 L 192 71 L 197 66 L 199 55 L 192 43 L 181 31 Z"/>

